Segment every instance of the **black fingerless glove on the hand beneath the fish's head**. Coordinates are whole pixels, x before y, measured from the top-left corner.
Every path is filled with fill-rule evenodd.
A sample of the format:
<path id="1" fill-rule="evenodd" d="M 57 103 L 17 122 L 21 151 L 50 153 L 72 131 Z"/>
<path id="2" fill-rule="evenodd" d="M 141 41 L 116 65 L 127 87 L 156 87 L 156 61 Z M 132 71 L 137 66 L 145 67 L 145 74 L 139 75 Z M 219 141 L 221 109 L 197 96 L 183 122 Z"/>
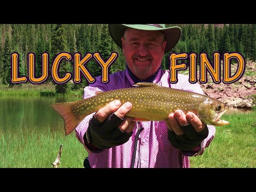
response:
<path id="1" fill-rule="evenodd" d="M 168 139 L 175 148 L 183 151 L 189 151 L 198 147 L 209 134 L 207 125 L 206 128 L 199 133 L 196 132 L 194 127 L 190 124 L 183 126 L 182 130 L 182 135 L 177 135 L 174 131 L 168 130 Z"/>

